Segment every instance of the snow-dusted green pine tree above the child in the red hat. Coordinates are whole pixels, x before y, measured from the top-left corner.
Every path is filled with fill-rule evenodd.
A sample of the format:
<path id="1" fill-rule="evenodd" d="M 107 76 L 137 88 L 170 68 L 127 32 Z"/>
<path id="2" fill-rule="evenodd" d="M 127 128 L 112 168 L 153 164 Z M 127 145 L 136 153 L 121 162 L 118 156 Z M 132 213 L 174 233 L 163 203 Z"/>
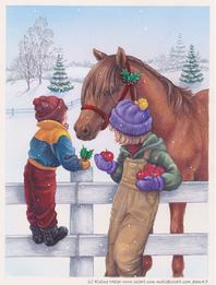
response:
<path id="1" fill-rule="evenodd" d="M 55 72 L 48 88 L 51 92 L 56 93 L 63 93 L 72 90 L 73 86 L 71 85 L 71 82 L 69 81 L 68 75 L 65 73 L 62 56 L 58 55 L 57 62 L 53 69 Z"/>

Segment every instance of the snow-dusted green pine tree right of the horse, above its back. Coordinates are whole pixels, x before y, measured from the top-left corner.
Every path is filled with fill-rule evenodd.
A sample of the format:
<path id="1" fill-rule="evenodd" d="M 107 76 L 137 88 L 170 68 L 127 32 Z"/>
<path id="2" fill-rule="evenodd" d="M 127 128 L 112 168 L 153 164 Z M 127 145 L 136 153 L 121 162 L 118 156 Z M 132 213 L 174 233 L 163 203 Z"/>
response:
<path id="1" fill-rule="evenodd" d="M 199 61 L 195 56 L 194 46 L 190 46 L 187 61 L 183 64 L 180 81 L 183 83 L 196 83 L 203 81 Z"/>

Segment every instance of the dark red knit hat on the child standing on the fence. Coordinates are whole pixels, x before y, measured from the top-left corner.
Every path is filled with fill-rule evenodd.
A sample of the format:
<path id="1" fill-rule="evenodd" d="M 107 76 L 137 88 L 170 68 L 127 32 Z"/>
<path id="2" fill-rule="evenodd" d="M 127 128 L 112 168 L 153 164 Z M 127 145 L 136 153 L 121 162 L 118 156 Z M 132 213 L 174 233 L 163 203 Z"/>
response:
<path id="1" fill-rule="evenodd" d="M 38 121 L 55 120 L 62 122 L 68 107 L 63 99 L 56 96 L 40 96 L 33 100 L 35 105 L 35 118 Z"/>

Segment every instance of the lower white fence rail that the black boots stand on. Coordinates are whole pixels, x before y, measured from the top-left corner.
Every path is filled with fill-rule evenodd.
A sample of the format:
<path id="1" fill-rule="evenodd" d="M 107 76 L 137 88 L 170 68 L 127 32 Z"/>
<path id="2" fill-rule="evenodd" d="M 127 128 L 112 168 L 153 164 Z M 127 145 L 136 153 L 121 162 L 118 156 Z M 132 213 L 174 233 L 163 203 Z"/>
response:
<path id="1" fill-rule="evenodd" d="M 77 249 L 76 245 L 79 245 Z M 7 257 L 10 258 L 33 256 L 56 258 L 105 257 L 106 252 L 106 235 L 70 235 L 52 248 L 45 245 L 35 246 L 31 237 L 7 237 Z M 205 256 L 207 254 L 207 235 L 202 233 L 149 235 L 145 253 L 152 256 Z"/>

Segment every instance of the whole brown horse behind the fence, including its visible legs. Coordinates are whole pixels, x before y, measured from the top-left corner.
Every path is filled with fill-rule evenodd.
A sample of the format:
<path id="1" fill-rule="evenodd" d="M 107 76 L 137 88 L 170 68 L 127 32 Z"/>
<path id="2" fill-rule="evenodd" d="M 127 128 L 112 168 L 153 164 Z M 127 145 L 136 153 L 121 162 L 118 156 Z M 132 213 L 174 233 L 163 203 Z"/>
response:
<path id="1" fill-rule="evenodd" d="M 182 179 L 208 179 L 208 91 L 192 94 L 172 84 L 141 60 L 127 56 L 122 48 L 117 55 L 107 56 L 94 49 L 98 60 L 88 72 L 82 88 L 84 107 L 74 124 L 76 136 L 93 140 L 107 124 L 111 109 L 122 97 L 130 97 L 131 87 L 125 91 L 121 70 L 140 72 L 140 81 L 132 87 L 136 98 L 148 100 L 153 117 L 153 131 L 164 139 L 169 154 L 178 165 Z M 125 94 L 127 93 L 127 94 Z M 170 233 L 183 233 L 185 203 L 170 203 Z M 146 271 L 152 258 L 144 257 Z M 182 256 L 173 256 L 175 277 L 183 276 Z"/>

